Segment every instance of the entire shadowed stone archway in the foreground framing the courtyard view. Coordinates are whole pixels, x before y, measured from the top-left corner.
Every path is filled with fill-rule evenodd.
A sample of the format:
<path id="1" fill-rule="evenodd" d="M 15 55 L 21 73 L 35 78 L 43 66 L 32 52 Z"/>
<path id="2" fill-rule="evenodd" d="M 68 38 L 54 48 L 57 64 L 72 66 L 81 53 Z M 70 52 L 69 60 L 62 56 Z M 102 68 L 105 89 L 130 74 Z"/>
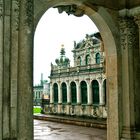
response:
<path id="1" fill-rule="evenodd" d="M 107 139 L 140 139 L 139 0 L 0 0 L 1 140 L 33 139 L 34 30 L 50 7 L 72 4 L 91 18 L 104 42 Z"/>

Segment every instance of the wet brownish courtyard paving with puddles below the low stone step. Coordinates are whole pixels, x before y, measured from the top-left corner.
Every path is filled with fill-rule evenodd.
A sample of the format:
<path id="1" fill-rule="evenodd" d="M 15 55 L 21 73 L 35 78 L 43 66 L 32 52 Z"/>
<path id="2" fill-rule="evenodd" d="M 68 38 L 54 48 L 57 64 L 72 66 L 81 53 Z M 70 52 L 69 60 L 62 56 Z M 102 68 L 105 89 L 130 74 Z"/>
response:
<path id="1" fill-rule="evenodd" d="M 34 120 L 34 140 L 106 140 L 106 130 Z"/>

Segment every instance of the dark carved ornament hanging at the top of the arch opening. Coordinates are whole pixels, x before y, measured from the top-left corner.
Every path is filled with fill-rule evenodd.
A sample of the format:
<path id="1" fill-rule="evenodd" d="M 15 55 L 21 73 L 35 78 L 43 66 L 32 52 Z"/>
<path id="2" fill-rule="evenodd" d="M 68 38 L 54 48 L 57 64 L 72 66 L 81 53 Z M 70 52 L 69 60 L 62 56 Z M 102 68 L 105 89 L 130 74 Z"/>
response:
<path id="1" fill-rule="evenodd" d="M 68 15 L 73 14 L 75 16 L 81 17 L 84 15 L 84 10 L 80 7 L 78 7 L 77 5 L 61 5 L 61 6 L 56 6 L 54 8 L 58 8 L 58 12 L 62 13 L 62 12 L 66 12 Z"/>

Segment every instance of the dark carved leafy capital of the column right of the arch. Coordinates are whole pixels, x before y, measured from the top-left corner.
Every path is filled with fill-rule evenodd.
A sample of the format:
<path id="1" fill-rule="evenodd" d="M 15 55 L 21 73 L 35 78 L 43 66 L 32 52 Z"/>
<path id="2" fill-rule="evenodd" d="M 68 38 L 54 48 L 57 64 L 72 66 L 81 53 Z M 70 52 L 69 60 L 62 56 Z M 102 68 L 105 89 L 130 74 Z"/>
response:
<path id="1" fill-rule="evenodd" d="M 120 41 L 123 49 L 133 48 L 136 43 L 136 26 L 132 18 L 121 18 L 120 22 Z"/>

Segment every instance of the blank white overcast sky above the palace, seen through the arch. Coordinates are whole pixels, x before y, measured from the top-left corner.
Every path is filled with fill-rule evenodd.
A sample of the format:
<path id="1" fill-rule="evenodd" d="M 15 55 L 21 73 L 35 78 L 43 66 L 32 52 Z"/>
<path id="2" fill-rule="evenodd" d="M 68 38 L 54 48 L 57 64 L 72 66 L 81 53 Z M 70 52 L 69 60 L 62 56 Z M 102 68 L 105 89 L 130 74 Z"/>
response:
<path id="1" fill-rule="evenodd" d="M 64 44 L 66 56 L 73 61 L 73 42 L 79 42 L 86 34 L 97 32 L 98 29 L 89 17 L 75 17 L 65 12 L 59 14 L 57 9 L 50 8 L 40 19 L 34 36 L 34 85 L 43 79 L 49 80 L 50 64 L 60 55 Z"/>

